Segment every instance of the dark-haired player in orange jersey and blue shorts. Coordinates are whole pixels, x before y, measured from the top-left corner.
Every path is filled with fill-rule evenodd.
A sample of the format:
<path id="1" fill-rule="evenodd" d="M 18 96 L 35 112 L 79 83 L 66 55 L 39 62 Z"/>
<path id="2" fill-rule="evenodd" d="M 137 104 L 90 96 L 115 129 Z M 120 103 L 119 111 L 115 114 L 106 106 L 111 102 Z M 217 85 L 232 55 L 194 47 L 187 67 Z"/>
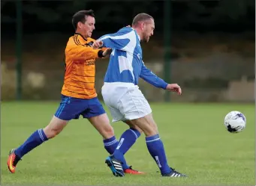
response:
<path id="1" fill-rule="evenodd" d="M 111 49 L 93 49 L 91 38 L 95 30 L 95 15 L 92 10 L 81 10 L 74 14 L 72 24 L 74 36 L 70 37 L 65 49 L 65 78 L 62 87 L 62 99 L 53 119 L 45 128 L 35 131 L 21 146 L 12 149 L 8 158 L 8 169 L 15 173 L 18 161 L 35 147 L 57 134 L 70 120 L 80 115 L 89 120 L 104 138 L 104 147 L 113 154 L 119 142 L 113 127 L 95 91 L 95 60 L 107 58 Z M 127 149 L 128 151 L 128 149 Z M 140 174 L 124 162 L 125 173 Z"/>

